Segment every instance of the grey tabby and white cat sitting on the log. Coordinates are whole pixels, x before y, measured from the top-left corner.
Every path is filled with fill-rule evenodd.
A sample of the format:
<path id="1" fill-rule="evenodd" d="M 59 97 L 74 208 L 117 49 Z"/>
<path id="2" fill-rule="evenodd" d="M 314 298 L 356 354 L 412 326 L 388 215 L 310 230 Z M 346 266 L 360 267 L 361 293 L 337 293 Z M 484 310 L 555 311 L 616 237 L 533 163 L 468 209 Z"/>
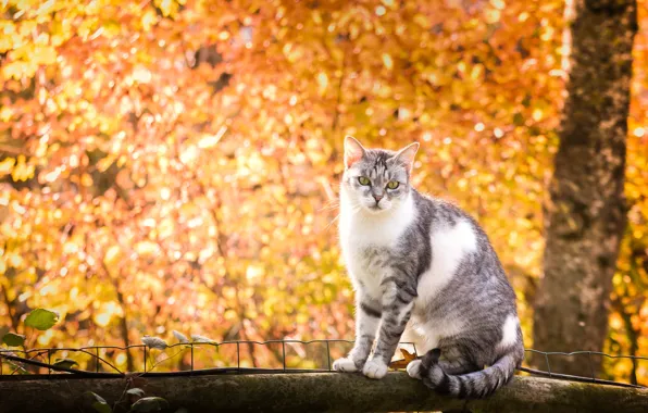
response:
<path id="1" fill-rule="evenodd" d="M 356 289 L 356 343 L 333 367 L 382 378 L 398 342 L 414 342 L 424 355 L 408 365 L 411 377 L 441 393 L 486 397 L 524 358 L 515 293 L 479 225 L 412 188 L 418 150 L 345 139 L 339 236 Z"/>

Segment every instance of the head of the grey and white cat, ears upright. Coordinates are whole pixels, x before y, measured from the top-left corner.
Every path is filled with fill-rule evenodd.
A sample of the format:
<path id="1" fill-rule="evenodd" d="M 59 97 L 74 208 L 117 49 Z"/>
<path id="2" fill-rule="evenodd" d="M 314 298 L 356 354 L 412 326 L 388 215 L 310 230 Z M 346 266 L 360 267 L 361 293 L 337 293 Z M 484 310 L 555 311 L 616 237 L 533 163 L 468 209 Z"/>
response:
<path id="1" fill-rule="evenodd" d="M 351 136 L 345 138 L 342 190 L 353 211 L 387 213 L 403 202 L 410 192 L 410 173 L 419 143 L 398 152 L 365 149 Z"/>

